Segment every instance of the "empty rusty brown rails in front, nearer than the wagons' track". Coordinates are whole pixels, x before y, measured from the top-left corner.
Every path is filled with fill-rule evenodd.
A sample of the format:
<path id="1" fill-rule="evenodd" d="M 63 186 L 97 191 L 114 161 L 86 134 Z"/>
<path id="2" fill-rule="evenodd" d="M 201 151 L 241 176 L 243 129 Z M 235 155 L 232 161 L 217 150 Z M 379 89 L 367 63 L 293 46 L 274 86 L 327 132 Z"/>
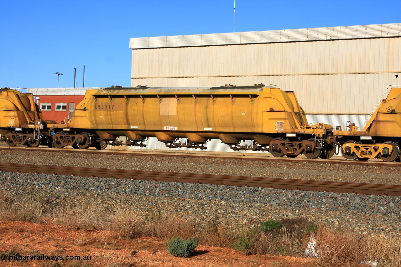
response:
<path id="1" fill-rule="evenodd" d="M 212 174 L 190 174 L 175 172 L 148 172 L 138 170 L 113 170 L 101 168 L 81 168 L 65 166 L 45 166 L 31 164 L 0 163 L 4 172 L 25 172 L 56 175 L 89 176 L 134 180 L 154 180 L 163 182 L 187 182 L 198 184 L 218 184 L 226 186 L 249 186 L 289 190 L 340 192 L 366 195 L 401 196 L 401 186 L 389 184 L 362 184 L 348 182 L 327 182 L 298 179 L 279 179 L 247 176 L 226 176 Z"/>

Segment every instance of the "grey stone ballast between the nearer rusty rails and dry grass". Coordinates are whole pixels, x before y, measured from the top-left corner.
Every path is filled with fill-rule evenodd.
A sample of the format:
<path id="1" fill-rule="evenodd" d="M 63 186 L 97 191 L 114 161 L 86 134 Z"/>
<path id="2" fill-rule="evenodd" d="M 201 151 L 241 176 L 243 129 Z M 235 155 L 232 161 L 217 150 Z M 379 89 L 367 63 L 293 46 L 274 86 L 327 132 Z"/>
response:
<path id="1" fill-rule="evenodd" d="M 0 172 L 0 186 L 14 200 L 33 189 L 59 204 L 99 200 L 120 210 L 180 214 L 234 228 L 305 217 L 356 233 L 401 232 L 401 197 L 14 172 Z"/>

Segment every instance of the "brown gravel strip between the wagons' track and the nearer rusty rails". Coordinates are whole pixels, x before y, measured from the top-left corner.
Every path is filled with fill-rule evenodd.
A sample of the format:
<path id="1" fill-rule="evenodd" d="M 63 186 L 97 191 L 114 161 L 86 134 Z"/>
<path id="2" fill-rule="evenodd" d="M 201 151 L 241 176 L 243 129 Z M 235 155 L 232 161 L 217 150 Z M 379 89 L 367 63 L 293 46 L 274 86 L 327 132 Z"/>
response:
<path id="1" fill-rule="evenodd" d="M 1 150 L 0 162 L 401 185 L 401 167 Z"/>

